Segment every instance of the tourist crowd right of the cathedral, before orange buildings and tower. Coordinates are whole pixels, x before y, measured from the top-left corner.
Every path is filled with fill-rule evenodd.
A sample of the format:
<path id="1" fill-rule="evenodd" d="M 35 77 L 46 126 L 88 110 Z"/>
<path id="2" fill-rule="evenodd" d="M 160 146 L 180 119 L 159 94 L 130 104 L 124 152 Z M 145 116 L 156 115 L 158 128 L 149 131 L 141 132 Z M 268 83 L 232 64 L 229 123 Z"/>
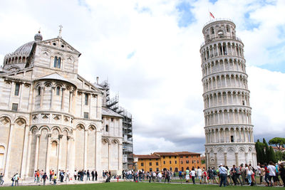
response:
<path id="1" fill-rule="evenodd" d="M 164 171 L 128 170 L 123 171 L 123 178 L 136 182 L 170 182 L 175 179 L 175 182 L 186 181 L 186 183 L 190 183 L 192 181 L 193 184 L 219 184 L 219 186 L 263 184 L 264 186 L 285 187 L 284 164 L 274 164 L 274 162 L 258 164 L 257 168 L 252 167 L 251 164 L 233 165 L 232 167 L 220 164 L 217 168 L 209 167 L 208 169 L 192 167 L 192 169 L 187 168 L 185 171 L 179 171 L 178 178 L 175 177 L 175 172 L 167 169 Z"/>

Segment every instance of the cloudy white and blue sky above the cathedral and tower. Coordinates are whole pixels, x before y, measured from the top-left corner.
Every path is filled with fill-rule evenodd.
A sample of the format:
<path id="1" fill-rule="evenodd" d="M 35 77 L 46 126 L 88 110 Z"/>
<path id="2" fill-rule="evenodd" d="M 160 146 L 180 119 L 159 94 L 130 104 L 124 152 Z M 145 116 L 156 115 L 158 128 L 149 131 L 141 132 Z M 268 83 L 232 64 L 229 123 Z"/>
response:
<path id="1" fill-rule="evenodd" d="M 244 43 L 255 139 L 285 136 L 285 1 L 2 0 L 0 60 L 41 28 L 82 53 L 79 73 L 108 80 L 133 114 L 135 154 L 204 152 L 199 48 L 209 11 Z"/>

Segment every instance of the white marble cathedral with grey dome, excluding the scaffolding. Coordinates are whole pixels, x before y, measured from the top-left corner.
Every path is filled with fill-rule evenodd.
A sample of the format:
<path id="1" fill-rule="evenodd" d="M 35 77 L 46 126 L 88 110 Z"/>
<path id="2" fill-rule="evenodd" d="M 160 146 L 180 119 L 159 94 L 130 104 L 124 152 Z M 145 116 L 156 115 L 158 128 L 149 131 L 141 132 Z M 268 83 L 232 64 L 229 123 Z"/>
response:
<path id="1" fill-rule="evenodd" d="M 78 75 L 81 53 L 41 33 L 4 58 L 0 70 L 0 172 L 95 169 L 121 174 L 123 117 L 103 85 Z"/>

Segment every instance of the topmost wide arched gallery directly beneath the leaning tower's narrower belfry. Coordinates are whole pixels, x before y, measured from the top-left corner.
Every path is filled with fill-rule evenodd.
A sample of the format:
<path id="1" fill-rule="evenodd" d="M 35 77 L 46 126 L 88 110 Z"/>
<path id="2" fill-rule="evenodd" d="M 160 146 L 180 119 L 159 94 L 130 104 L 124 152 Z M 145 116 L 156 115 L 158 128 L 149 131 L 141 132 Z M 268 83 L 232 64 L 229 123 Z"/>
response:
<path id="1" fill-rule="evenodd" d="M 203 46 L 200 53 L 203 61 L 218 56 L 237 56 L 244 58 L 244 46 L 242 43 L 237 42 L 211 43 L 207 46 Z"/>

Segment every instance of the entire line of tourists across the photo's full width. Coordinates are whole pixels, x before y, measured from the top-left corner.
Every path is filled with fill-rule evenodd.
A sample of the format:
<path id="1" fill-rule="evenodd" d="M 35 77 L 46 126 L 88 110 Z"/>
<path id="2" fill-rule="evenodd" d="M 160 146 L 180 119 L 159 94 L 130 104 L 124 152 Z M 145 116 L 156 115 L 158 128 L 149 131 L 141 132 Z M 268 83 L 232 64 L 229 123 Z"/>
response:
<path id="1" fill-rule="evenodd" d="M 214 167 L 209 167 L 208 169 L 199 168 L 195 169 L 192 167 L 190 170 L 187 168 L 185 171 L 179 171 L 175 174 L 171 170 L 165 169 L 163 171 L 133 171 L 133 170 L 123 170 L 122 176 L 111 176 L 110 171 L 103 171 L 103 179 L 105 182 L 110 182 L 111 177 L 113 178 L 123 178 L 130 181 L 148 181 L 148 182 L 167 182 L 173 181 L 179 182 L 179 180 L 186 181 L 193 184 L 219 184 L 219 186 L 228 185 L 250 185 L 254 186 L 257 184 L 264 184 L 264 186 L 284 186 L 285 187 L 285 169 L 284 164 L 274 164 L 274 162 L 269 162 L 269 164 L 257 164 L 257 168 L 252 167 L 251 164 L 241 164 L 240 166 L 233 165 L 232 167 L 224 166 L 220 164 L 216 169 Z M 46 184 L 47 181 L 50 184 L 56 185 L 57 182 L 64 181 L 97 181 L 98 173 L 97 171 L 89 170 L 79 170 L 71 172 L 59 170 L 58 175 L 52 169 L 48 172 L 43 170 L 34 171 L 34 183 Z M 280 177 L 279 177 L 280 176 Z M 19 180 L 21 176 L 19 174 L 14 174 L 12 176 L 11 186 L 19 186 Z M 178 181 L 177 181 L 178 179 Z M 4 184 L 4 174 L 0 174 L 0 185 Z"/>

